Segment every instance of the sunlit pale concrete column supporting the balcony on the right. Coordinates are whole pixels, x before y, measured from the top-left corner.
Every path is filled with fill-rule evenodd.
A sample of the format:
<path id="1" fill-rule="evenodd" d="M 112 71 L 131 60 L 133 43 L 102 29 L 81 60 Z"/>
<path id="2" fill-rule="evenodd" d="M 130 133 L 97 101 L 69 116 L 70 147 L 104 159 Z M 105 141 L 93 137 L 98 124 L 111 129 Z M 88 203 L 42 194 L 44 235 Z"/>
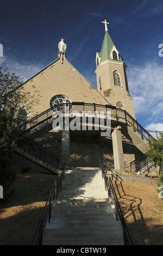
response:
<path id="1" fill-rule="evenodd" d="M 114 168 L 116 170 L 124 170 L 121 126 L 115 127 L 112 132 L 112 148 L 114 154 Z"/>

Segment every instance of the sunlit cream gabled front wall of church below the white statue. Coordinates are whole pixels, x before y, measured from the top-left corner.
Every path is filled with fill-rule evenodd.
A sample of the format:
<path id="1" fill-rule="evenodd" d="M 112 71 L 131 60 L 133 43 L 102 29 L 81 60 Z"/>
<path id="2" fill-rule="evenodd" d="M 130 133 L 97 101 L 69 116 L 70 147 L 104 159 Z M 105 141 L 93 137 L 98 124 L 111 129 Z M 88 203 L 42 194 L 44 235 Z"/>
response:
<path id="1" fill-rule="evenodd" d="M 39 104 L 31 109 L 32 116 L 48 109 L 52 97 L 58 94 L 68 96 L 71 102 L 92 103 L 96 99 L 97 104 L 109 104 L 67 60 L 62 64 L 58 59 L 29 80 L 25 87 L 32 94 L 34 91 L 40 94 Z"/>

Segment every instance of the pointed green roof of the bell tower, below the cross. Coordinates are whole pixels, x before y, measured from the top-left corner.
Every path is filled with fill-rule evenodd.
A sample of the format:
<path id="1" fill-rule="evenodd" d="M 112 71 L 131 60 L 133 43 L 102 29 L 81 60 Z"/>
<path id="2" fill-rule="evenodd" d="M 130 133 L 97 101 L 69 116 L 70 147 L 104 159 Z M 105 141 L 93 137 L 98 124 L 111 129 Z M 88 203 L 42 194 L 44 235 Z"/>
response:
<path id="1" fill-rule="evenodd" d="M 103 40 L 103 44 L 102 44 L 102 48 L 101 48 L 101 52 L 98 53 L 98 56 L 101 57 L 101 61 L 103 62 L 104 60 L 107 59 L 112 59 L 110 56 L 110 52 L 112 47 L 115 46 L 114 42 L 112 41 L 108 31 L 105 32 L 105 36 L 104 36 L 104 40 Z M 119 56 L 119 61 L 123 62 L 123 58 L 121 56 Z"/>

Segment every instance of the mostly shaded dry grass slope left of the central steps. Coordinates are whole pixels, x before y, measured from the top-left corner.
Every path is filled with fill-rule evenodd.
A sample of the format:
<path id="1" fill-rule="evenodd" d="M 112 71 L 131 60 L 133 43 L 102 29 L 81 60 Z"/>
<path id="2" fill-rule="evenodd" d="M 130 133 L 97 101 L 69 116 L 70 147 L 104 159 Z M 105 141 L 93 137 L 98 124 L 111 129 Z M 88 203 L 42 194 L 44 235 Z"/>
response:
<path id="1" fill-rule="evenodd" d="M 0 245 L 31 245 L 54 177 L 42 173 L 17 175 L 12 186 L 15 196 L 0 204 Z"/>

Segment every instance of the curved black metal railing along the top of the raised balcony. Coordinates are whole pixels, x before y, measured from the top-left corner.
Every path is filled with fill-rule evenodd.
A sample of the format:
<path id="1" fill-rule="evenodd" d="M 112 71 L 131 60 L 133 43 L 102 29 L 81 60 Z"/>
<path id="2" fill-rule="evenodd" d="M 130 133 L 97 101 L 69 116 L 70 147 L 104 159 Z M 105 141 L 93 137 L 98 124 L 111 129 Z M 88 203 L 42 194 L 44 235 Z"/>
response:
<path id="1" fill-rule="evenodd" d="M 99 105 L 95 103 L 84 102 L 72 102 L 54 105 L 52 108 L 48 108 L 46 111 L 36 115 L 36 117 L 19 125 L 18 129 L 22 132 L 37 129 L 42 124 L 47 124 L 50 120 L 53 120 L 54 112 L 60 111 L 64 113 L 65 109 L 68 113 L 86 112 L 87 114 L 92 114 L 95 111 L 98 113 L 103 112 L 105 118 L 108 117 L 117 121 L 123 121 L 124 123 L 130 125 L 130 127 L 132 127 L 135 132 L 138 132 L 141 135 L 142 139 L 147 139 L 149 141 L 149 138 L 152 137 L 152 135 L 125 110 L 116 108 L 111 105 Z"/>

